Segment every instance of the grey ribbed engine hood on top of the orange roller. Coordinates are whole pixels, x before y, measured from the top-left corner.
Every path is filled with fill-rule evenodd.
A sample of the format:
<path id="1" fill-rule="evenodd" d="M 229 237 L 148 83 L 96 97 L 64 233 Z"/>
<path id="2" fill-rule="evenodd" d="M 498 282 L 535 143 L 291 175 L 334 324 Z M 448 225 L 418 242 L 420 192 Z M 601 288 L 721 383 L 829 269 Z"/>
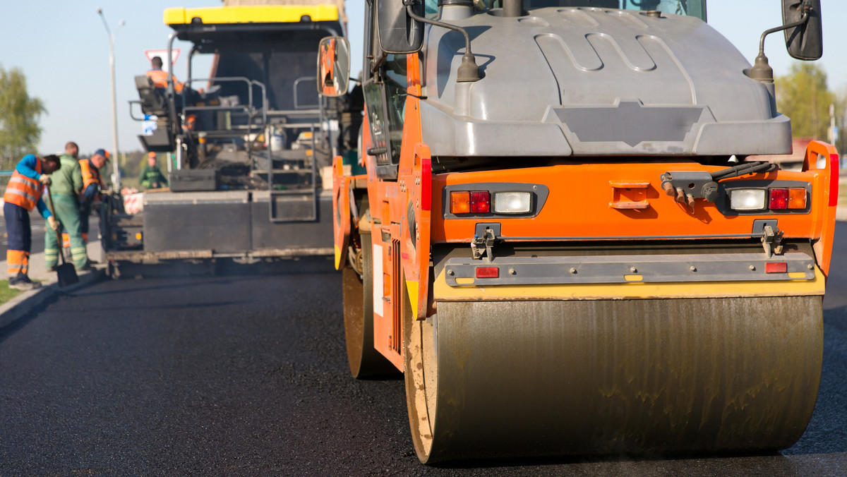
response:
<path id="1" fill-rule="evenodd" d="M 772 110 L 772 93 L 744 74 L 747 59 L 699 19 L 540 8 L 521 18 L 475 14 L 452 23 L 468 28 L 484 78 L 457 84 L 462 36 L 428 27 L 425 48 L 435 54 L 424 64 L 421 120 L 424 141 L 435 155 L 790 151 L 789 123 Z M 650 114 L 639 116 L 638 124 L 627 115 L 608 114 L 622 103 L 639 104 Z M 567 108 L 606 109 L 584 115 L 582 122 L 553 114 Z M 655 130 L 686 108 L 703 111 L 690 128 L 686 122 L 686 134 L 656 136 Z M 592 129 L 601 130 L 595 134 L 603 141 L 582 137 Z M 606 141 L 614 131 L 625 133 Z"/>

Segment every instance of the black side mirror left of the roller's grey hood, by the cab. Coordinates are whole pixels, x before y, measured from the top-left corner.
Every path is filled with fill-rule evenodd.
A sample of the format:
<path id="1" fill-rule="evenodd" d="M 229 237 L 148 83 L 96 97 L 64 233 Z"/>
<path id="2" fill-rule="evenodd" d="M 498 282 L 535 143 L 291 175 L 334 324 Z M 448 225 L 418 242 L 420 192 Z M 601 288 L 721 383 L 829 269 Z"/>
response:
<path id="1" fill-rule="evenodd" d="M 407 14 L 403 0 L 375 0 L 375 3 L 382 51 L 408 54 L 420 50 L 424 42 L 424 26 Z M 424 3 L 415 2 L 412 11 L 424 16 Z"/>

